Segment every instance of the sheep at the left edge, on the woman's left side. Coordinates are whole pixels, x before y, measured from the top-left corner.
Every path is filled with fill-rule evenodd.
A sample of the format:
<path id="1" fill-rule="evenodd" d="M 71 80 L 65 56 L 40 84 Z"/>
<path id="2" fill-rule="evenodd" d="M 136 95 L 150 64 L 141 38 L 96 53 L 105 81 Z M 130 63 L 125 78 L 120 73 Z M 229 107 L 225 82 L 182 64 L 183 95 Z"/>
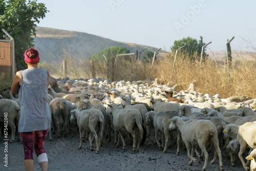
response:
<path id="1" fill-rule="evenodd" d="M 20 106 L 14 100 L 10 99 L 0 99 L 0 130 L 2 130 L 2 126 L 6 127 L 6 123 L 8 123 L 8 128 L 12 131 L 10 143 L 14 141 L 16 126 L 15 122 L 18 123 L 20 117 Z M 8 122 L 6 119 L 8 118 Z M 1 131 L 2 132 L 2 131 Z M 1 137 L 0 132 L 0 137 Z M 20 138 L 18 137 L 17 141 Z"/>

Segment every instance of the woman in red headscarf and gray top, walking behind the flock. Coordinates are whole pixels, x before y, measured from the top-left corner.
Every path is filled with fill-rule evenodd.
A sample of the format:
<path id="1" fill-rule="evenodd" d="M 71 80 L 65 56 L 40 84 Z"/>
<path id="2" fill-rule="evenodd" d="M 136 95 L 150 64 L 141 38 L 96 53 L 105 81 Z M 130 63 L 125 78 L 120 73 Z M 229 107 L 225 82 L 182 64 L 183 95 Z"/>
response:
<path id="1" fill-rule="evenodd" d="M 34 48 L 25 52 L 25 62 L 28 69 L 16 72 L 11 88 L 20 104 L 18 132 L 24 146 L 25 170 L 34 169 L 33 148 L 41 169 L 48 170 L 44 143 L 51 123 L 47 103 L 50 74 L 37 68 L 39 53 Z"/>

